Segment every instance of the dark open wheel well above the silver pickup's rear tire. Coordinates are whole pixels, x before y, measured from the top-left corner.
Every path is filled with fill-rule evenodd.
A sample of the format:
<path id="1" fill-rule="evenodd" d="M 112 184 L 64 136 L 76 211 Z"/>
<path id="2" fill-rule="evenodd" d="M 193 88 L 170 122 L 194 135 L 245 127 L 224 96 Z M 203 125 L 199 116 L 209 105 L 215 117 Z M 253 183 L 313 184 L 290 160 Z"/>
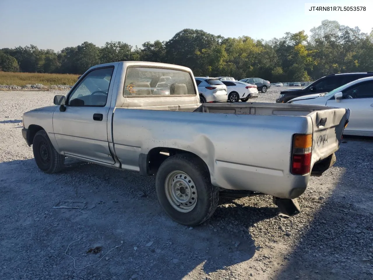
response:
<path id="1" fill-rule="evenodd" d="M 146 169 L 145 169 L 146 172 L 144 172 L 145 170 L 142 170 L 141 173 L 143 175 L 156 174 L 157 171 L 158 171 L 158 168 L 160 167 L 162 162 L 164 162 L 170 156 L 180 154 L 180 153 L 186 153 L 186 154 L 189 154 L 189 155 L 192 155 L 192 156 L 195 156 L 196 158 L 198 158 L 201 161 L 201 163 L 203 164 L 203 166 L 205 167 L 206 171 L 209 173 L 209 176 L 210 176 L 210 171 L 209 171 L 209 168 L 207 167 L 206 162 L 204 162 L 203 159 L 201 159 L 195 153 L 187 152 L 185 150 L 180 150 L 180 149 L 166 148 L 166 147 L 153 148 L 148 152 L 146 157 L 143 157 L 142 161 L 144 161 L 144 158 L 145 158 L 146 164 L 144 164 L 144 163 L 141 164 L 140 163 L 140 169 L 141 169 L 141 167 L 143 167 L 143 169 L 145 169 L 145 167 L 146 167 Z M 140 161 L 141 161 L 141 157 L 140 157 Z M 146 174 L 144 174 L 144 173 L 146 173 Z"/>

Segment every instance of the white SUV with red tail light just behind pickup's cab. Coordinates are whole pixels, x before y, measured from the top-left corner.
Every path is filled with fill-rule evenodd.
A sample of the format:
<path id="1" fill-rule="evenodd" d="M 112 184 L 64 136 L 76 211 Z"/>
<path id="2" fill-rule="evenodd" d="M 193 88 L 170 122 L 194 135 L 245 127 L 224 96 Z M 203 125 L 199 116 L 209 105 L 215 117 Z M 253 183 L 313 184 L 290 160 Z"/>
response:
<path id="1" fill-rule="evenodd" d="M 218 78 L 194 78 L 200 94 L 200 103 L 227 102 L 227 87 Z"/>

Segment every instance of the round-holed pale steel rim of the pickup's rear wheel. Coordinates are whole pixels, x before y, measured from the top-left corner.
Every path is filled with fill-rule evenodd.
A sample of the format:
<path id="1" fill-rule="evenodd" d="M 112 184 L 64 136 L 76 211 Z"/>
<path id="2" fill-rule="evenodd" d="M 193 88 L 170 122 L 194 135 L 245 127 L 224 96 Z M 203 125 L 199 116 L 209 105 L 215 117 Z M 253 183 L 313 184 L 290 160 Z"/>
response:
<path id="1" fill-rule="evenodd" d="M 197 204 L 197 188 L 192 178 L 183 171 L 175 170 L 167 175 L 164 191 L 170 205 L 179 212 L 188 213 Z"/>

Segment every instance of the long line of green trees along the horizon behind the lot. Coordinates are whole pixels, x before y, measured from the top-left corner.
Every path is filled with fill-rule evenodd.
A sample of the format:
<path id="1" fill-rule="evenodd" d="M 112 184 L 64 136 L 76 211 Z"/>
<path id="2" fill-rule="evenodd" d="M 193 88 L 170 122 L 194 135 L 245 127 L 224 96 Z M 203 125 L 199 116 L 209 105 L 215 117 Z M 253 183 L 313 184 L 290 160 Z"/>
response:
<path id="1" fill-rule="evenodd" d="M 168 41 L 133 48 L 121 41 L 103 47 L 84 42 L 60 52 L 36 46 L 0 49 L 0 71 L 82 74 L 93 65 L 123 60 L 187 66 L 195 76 L 262 77 L 271 82 L 310 81 L 347 71 L 373 71 L 373 29 L 324 20 L 311 30 L 286 32 L 282 38 L 224 38 L 198 29 L 183 29 Z"/>

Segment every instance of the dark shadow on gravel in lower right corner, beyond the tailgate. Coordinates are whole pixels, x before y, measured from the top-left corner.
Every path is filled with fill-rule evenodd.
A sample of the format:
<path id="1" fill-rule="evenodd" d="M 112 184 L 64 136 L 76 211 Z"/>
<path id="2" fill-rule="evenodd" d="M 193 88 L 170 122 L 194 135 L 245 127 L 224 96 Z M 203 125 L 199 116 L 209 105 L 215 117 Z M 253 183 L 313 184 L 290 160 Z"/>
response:
<path id="1" fill-rule="evenodd" d="M 274 279 L 373 279 L 372 144 L 372 138 L 344 137 L 335 166 L 323 175 L 334 177 L 335 188 L 318 192 L 313 220 Z"/>

